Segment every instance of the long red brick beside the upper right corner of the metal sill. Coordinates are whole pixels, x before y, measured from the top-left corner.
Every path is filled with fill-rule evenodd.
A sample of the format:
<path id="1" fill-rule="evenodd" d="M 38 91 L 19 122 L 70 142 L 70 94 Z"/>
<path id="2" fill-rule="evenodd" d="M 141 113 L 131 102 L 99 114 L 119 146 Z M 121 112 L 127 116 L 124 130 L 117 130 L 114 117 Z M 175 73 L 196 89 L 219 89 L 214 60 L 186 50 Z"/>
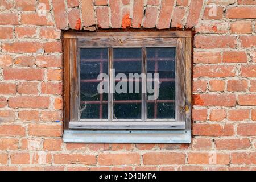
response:
<path id="1" fill-rule="evenodd" d="M 218 124 L 194 124 L 193 135 L 197 136 L 232 136 L 234 135 L 234 126 L 226 124 L 224 126 Z"/>

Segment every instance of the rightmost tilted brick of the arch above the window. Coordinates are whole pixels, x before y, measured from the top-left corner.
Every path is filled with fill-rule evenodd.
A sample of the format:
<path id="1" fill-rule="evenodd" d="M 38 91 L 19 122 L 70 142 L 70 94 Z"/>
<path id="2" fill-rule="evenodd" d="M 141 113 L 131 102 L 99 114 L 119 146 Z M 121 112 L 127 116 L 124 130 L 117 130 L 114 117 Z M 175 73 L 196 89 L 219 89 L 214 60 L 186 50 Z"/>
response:
<path id="1" fill-rule="evenodd" d="M 187 28 L 192 28 L 195 26 L 199 20 L 200 12 L 203 7 L 203 0 L 199 1 L 191 1 L 191 4 L 189 6 L 189 14 L 187 18 Z"/>

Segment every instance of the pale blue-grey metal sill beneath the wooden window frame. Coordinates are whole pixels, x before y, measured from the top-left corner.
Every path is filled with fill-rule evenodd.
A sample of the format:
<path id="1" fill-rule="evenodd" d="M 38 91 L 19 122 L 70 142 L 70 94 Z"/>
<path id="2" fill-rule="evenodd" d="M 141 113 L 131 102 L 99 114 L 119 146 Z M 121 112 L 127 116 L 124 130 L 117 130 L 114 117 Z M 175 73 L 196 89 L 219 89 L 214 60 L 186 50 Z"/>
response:
<path id="1" fill-rule="evenodd" d="M 191 143 L 190 130 L 64 130 L 65 143 Z"/>

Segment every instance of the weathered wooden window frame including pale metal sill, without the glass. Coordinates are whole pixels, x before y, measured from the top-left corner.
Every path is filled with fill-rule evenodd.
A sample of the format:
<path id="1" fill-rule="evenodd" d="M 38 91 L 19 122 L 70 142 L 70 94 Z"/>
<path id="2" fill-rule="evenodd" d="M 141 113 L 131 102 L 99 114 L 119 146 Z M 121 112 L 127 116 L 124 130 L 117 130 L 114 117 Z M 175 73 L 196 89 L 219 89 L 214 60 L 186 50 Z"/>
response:
<path id="1" fill-rule="evenodd" d="M 163 143 L 189 143 L 191 140 L 191 36 L 189 31 L 64 32 L 64 142 L 161 143 L 162 141 Z M 79 119 L 79 48 L 109 48 L 109 60 L 112 63 L 113 48 L 134 47 L 142 48 L 142 58 L 145 57 L 143 54 L 146 54 L 146 51 L 143 51 L 144 47 L 176 48 L 175 119 L 148 119 L 145 122 L 143 112 L 145 112 L 146 106 L 143 104 L 143 120 L 139 122 L 134 122 L 131 119 L 115 122 L 111 117 L 108 119 Z M 142 61 L 142 64 L 146 63 L 146 60 Z M 112 67 L 113 64 L 109 64 L 109 70 Z M 109 83 L 109 87 L 112 88 L 113 83 Z M 145 84 L 142 85 L 142 88 L 146 88 L 144 86 Z M 108 105 L 113 106 L 113 98 L 109 97 Z M 146 94 L 142 94 L 142 100 L 145 99 Z M 108 110 L 108 115 L 111 116 L 112 110 Z M 130 131 L 126 133 L 124 130 Z M 93 131 L 95 131 L 94 136 L 102 137 L 104 135 L 105 140 L 90 139 L 89 135 L 91 136 Z M 120 132 L 117 133 L 118 131 Z M 135 136 L 141 133 L 144 134 L 144 139 L 135 139 Z M 134 139 L 130 139 L 130 141 L 129 139 L 121 140 L 122 137 L 111 139 L 109 137 L 111 134 L 115 137 L 118 134 L 122 137 L 127 134 L 133 135 Z M 159 139 L 156 139 L 157 137 L 153 139 L 154 141 L 152 138 L 146 139 L 154 134 L 158 135 Z M 170 134 L 171 139 L 168 138 Z M 179 134 L 185 134 L 187 138 L 177 137 Z"/>

